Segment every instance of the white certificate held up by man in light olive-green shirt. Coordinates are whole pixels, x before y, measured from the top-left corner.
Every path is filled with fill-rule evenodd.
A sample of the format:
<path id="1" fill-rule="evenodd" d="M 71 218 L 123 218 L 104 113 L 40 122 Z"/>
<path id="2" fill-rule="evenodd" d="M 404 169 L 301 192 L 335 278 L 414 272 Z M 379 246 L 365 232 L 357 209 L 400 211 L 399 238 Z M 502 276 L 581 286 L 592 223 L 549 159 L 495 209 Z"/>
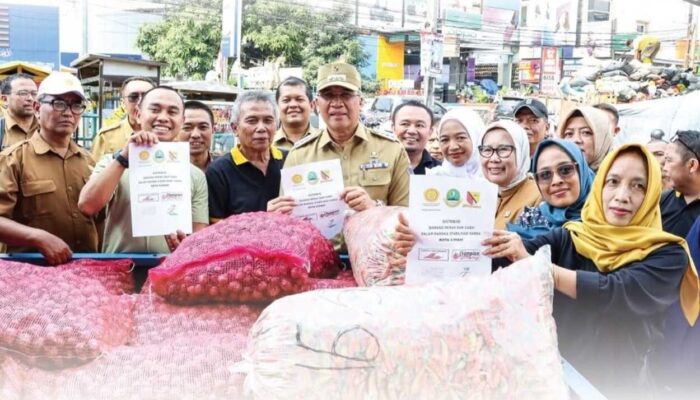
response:
<path id="1" fill-rule="evenodd" d="M 129 145 L 134 237 L 192 233 L 189 143 Z"/>

